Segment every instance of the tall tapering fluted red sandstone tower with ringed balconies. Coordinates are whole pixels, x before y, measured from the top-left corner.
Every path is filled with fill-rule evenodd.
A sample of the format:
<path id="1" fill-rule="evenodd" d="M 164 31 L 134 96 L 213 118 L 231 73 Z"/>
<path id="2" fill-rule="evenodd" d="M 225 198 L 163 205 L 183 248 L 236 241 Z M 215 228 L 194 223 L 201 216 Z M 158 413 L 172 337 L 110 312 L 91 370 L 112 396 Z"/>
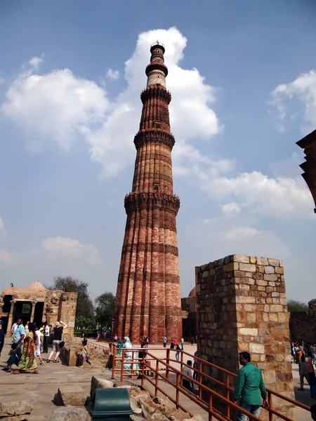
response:
<path id="1" fill-rule="evenodd" d="M 127 214 L 117 283 L 114 334 L 139 343 L 162 342 L 182 335 L 176 215 L 180 200 L 173 194 L 168 69 L 164 46 L 150 48 L 143 111 L 134 138 L 133 188 L 125 196 Z"/>

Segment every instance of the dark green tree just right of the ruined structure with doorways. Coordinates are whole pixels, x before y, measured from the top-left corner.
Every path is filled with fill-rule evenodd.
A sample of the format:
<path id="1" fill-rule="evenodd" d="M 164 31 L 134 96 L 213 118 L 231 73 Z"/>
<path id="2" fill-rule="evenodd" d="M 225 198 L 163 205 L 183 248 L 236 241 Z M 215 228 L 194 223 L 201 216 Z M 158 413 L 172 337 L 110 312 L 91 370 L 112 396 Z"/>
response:
<path id="1" fill-rule="evenodd" d="M 76 319 L 82 316 L 94 318 L 93 302 L 88 293 L 88 283 L 73 276 L 55 276 L 53 285 L 46 287 L 51 290 L 62 290 L 65 293 L 78 293 Z"/>

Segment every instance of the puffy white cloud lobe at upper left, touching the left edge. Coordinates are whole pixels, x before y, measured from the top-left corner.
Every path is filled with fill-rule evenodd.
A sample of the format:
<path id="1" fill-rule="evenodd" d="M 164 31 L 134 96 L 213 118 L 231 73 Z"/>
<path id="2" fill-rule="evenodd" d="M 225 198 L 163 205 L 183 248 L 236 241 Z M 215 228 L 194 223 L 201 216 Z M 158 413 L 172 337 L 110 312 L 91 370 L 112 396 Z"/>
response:
<path id="1" fill-rule="evenodd" d="M 38 152 L 45 142 L 68 151 L 81 125 L 103 121 L 110 109 L 105 91 L 70 69 L 36 74 L 42 58 L 32 58 L 6 92 L 1 111 L 28 135 L 28 146 Z"/>

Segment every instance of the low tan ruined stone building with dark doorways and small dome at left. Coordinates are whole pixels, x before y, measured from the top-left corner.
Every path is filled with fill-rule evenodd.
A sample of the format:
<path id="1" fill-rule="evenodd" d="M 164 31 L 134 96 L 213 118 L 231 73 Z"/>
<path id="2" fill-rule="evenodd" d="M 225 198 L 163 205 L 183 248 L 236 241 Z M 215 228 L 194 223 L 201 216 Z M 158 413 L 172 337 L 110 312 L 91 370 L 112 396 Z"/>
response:
<path id="1" fill-rule="evenodd" d="M 40 326 L 45 321 L 52 326 L 62 320 L 67 324 L 65 334 L 74 334 L 74 319 L 77 309 L 77 293 L 47 290 L 39 281 L 25 288 L 4 288 L 0 295 L 0 319 L 4 330 L 10 330 L 18 319 L 23 324 L 31 321 Z"/>

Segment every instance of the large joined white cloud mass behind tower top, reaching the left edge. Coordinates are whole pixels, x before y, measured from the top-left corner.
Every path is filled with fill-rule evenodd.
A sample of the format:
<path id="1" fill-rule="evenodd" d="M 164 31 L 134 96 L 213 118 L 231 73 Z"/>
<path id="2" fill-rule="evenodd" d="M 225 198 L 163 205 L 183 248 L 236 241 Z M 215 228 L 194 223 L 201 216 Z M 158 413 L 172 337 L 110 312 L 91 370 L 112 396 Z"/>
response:
<path id="1" fill-rule="evenodd" d="M 197 69 L 183 69 L 179 65 L 187 39 L 176 27 L 138 36 L 136 49 L 125 63 L 127 86 L 112 103 L 103 88 L 74 76 L 70 69 L 37 74 L 43 58 L 32 58 L 8 88 L 1 109 L 29 134 L 32 150 L 39 150 L 46 146 L 45 142 L 53 140 L 67 151 L 80 133 L 90 145 L 91 159 L 103 166 L 103 175 L 114 176 L 136 156 L 133 136 L 140 121 L 139 95 L 146 86 L 150 44 L 156 39 L 166 46 L 169 68 L 166 83 L 173 95 L 171 130 L 177 141 L 175 154 L 180 155 L 178 173 L 185 173 L 185 166 L 190 163 L 183 162 L 191 159 L 192 151 L 197 152 L 197 160 L 204 159 L 187 141 L 211 138 L 220 131 L 220 124 L 211 108 L 215 88 L 206 83 Z M 117 72 L 110 69 L 107 75 L 116 77 Z"/>

